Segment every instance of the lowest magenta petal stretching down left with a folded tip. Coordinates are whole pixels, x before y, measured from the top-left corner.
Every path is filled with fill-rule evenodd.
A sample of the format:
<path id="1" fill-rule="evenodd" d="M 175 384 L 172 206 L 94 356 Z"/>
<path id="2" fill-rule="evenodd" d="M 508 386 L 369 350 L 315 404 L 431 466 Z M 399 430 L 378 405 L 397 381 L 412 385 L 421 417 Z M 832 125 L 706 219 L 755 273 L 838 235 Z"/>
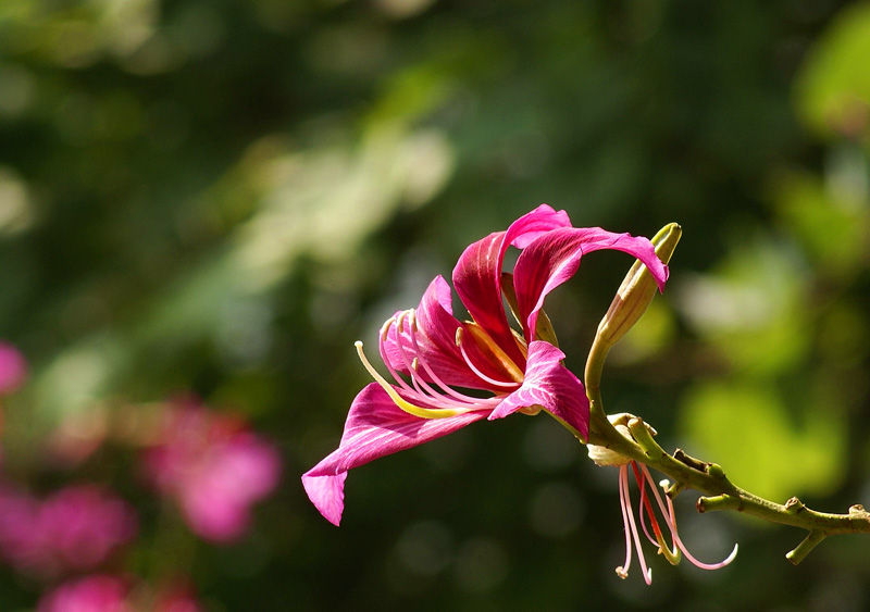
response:
<path id="1" fill-rule="evenodd" d="M 447 419 L 420 419 L 402 411 L 377 383 L 371 383 L 350 405 L 338 448 L 302 475 L 302 485 L 321 514 L 338 525 L 348 470 L 451 434 L 488 413 L 481 410 Z"/>

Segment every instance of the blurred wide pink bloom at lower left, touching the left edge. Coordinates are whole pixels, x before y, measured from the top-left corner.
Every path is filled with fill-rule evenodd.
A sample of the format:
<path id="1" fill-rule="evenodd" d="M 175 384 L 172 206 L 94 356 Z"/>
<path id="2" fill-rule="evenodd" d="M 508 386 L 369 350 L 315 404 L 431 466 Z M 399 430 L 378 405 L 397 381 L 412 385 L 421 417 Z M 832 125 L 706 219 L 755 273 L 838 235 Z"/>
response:
<path id="1" fill-rule="evenodd" d="M 0 551 L 42 576 L 98 567 L 137 533 L 133 508 L 95 485 L 74 485 L 40 501 L 0 490 Z"/>

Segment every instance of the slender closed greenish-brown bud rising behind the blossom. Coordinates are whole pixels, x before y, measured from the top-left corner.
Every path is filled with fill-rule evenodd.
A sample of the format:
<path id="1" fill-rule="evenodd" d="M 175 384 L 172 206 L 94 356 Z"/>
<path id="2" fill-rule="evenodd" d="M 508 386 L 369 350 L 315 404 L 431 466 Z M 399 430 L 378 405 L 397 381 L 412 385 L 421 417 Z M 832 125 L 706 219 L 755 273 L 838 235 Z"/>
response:
<path id="1" fill-rule="evenodd" d="M 656 254 L 663 264 L 667 265 L 670 261 L 682 235 L 683 229 L 678 224 L 671 223 L 662 227 L 652 238 Z M 634 327 L 656 296 L 656 279 L 646 265 L 639 260 L 635 261 L 598 325 L 595 338 L 598 350 L 609 350 Z"/>

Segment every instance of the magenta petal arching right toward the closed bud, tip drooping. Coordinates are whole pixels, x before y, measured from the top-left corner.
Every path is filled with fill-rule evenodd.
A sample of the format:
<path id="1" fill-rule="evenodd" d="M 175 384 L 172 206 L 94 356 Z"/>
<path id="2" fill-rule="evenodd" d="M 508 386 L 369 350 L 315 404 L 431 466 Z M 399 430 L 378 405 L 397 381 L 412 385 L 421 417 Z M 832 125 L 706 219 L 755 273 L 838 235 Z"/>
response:
<path id="1" fill-rule="evenodd" d="M 584 253 L 601 249 L 623 251 L 639 259 L 652 273 L 659 290 L 664 288 L 668 266 L 661 263 L 647 238 L 613 234 L 600 227 L 547 232 L 525 247 L 513 268 L 513 285 L 526 338 L 534 338 L 544 298 L 576 273 Z"/>

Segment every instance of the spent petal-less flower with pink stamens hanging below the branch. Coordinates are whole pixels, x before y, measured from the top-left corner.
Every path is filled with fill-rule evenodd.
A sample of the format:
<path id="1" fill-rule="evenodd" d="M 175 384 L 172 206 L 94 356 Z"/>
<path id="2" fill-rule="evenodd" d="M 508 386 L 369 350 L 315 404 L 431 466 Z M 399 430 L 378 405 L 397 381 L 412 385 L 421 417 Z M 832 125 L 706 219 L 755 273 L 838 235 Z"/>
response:
<path id="1" fill-rule="evenodd" d="M 630 414 L 614 414 L 609 416 L 609 419 L 610 422 L 613 423 L 617 432 L 626 438 L 632 439 L 631 430 L 626 426 L 629 420 L 632 419 Z M 648 425 L 646 425 L 646 427 L 649 428 Z M 650 434 L 655 434 L 651 428 Z M 629 458 L 605 447 L 588 445 L 587 449 L 589 458 L 593 460 L 593 462 L 595 462 L 596 465 L 613 465 L 619 469 L 619 501 L 622 509 L 622 522 L 625 529 L 625 562 L 617 567 L 617 575 L 620 578 L 624 579 L 629 577 L 629 567 L 632 564 L 633 541 L 634 548 L 637 550 L 637 561 L 639 562 L 641 571 L 644 574 L 644 582 L 646 582 L 646 584 L 650 584 L 652 582 L 652 570 L 647 566 L 646 559 L 644 558 L 644 549 L 641 547 L 641 530 L 643 530 L 644 535 L 652 544 L 652 546 L 657 548 L 657 552 L 664 557 L 672 565 L 680 563 L 682 555 L 685 555 L 685 558 L 688 559 L 693 565 L 700 567 L 701 570 L 719 570 L 720 567 L 724 567 L 734 561 L 734 558 L 737 555 L 737 545 L 734 545 L 734 549 L 731 551 L 731 554 L 729 554 L 719 563 L 703 563 L 701 561 L 695 559 L 692 553 L 686 550 L 683 540 L 680 539 L 680 535 L 676 532 L 676 516 L 674 515 L 673 511 L 673 501 L 669 496 L 666 495 L 666 504 L 664 500 L 662 500 L 662 497 L 659 494 L 658 486 L 652 479 L 652 475 L 649 473 L 649 469 L 646 465 L 643 463 L 638 464 L 636 461 L 632 461 Z M 637 529 L 638 521 L 635 521 L 634 519 L 634 510 L 632 508 L 632 499 L 629 491 L 629 482 L 631 479 L 629 474 L 630 469 L 635 480 L 637 482 L 637 487 L 641 489 L 641 501 L 637 509 L 641 530 Z M 658 505 L 661 516 L 664 519 L 664 525 L 671 533 L 671 545 L 668 545 L 664 541 L 664 535 L 662 534 L 662 529 L 659 526 L 658 520 L 656 519 L 656 512 L 654 510 L 652 502 L 647 494 L 647 485 L 649 485 L 649 489 L 652 491 L 652 497 L 656 500 L 656 505 Z M 667 480 L 662 480 L 660 485 L 662 488 L 667 488 L 669 483 Z M 647 521 L 649 521 L 649 525 L 652 528 L 652 534 L 649 533 Z"/>

